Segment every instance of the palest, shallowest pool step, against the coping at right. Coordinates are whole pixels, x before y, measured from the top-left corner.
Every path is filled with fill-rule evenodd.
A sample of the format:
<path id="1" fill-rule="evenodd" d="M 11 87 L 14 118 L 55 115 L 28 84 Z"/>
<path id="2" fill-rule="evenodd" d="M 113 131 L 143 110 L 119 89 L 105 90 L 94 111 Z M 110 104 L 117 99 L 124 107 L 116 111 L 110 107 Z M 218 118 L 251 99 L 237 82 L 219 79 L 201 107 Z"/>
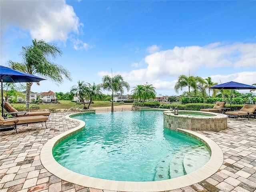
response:
<path id="1" fill-rule="evenodd" d="M 210 160 L 208 148 L 200 146 L 190 150 L 183 159 L 184 170 L 187 174 L 198 170 Z M 199 162 L 199 163 L 198 163 Z"/>

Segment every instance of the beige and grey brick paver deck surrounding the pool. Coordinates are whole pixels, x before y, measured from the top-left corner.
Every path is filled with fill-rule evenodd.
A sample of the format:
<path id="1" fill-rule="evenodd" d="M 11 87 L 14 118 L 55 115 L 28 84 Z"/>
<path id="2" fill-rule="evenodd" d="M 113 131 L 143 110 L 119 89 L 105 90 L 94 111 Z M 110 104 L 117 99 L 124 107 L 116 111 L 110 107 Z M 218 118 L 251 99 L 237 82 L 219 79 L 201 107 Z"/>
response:
<path id="1" fill-rule="evenodd" d="M 61 180 L 40 162 L 40 150 L 49 139 L 78 126 L 65 115 L 51 114 L 48 129 L 38 123 L 18 126 L 18 134 L 0 132 L 0 192 L 102 192 Z M 256 119 L 228 118 L 226 130 L 200 134 L 220 146 L 223 165 L 210 178 L 170 192 L 256 192 Z"/>

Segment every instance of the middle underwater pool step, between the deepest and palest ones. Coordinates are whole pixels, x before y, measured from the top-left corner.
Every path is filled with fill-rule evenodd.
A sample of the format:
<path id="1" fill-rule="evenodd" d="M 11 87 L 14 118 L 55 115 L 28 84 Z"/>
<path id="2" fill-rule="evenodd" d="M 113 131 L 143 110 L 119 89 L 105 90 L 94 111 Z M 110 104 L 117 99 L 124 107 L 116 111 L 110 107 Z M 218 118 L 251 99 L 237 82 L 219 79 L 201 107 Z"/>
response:
<path id="1" fill-rule="evenodd" d="M 170 162 L 170 178 L 176 178 L 186 174 L 184 172 L 183 159 L 186 152 L 178 152 Z"/>

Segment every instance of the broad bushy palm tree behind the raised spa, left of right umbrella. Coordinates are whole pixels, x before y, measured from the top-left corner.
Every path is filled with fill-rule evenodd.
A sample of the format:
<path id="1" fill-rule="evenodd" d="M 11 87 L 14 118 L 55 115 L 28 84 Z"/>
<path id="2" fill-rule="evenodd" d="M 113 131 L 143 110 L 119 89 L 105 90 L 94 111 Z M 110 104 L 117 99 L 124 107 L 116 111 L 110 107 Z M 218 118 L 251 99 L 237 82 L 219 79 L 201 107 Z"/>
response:
<path id="1" fill-rule="evenodd" d="M 190 93 L 190 88 L 196 92 L 200 86 L 204 85 L 206 82 L 204 81 L 203 78 L 199 76 L 185 76 L 185 75 L 180 75 L 178 77 L 178 81 L 176 82 L 174 86 L 174 90 L 176 93 L 178 93 L 179 90 L 182 90 L 184 87 L 188 87 L 188 97 L 191 97 Z"/>

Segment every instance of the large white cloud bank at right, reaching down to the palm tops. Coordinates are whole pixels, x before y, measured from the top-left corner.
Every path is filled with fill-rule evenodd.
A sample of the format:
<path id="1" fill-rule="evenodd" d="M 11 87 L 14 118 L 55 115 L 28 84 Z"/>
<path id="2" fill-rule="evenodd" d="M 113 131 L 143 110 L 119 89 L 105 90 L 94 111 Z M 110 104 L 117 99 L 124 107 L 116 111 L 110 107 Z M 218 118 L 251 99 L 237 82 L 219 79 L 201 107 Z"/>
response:
<path id="1" fill-rule="evenodd" d="M 188 74 L 189 70 L 190 74 L 197 74 L 199 69 L 208 71 L 213 68 L 219 68 L 222 75 L 214 75 L 215 72 L 213 72 L 213 75 L 210 76 L 212 81 L 218 84 L 220 84 L 220 81 L 222 83 L 235 81 L 250 85 L 256 83 L 256 44 L 214 43 L 204 47 L 175 47 L 171 50 L 150 54 L 146 56 L 144 62 L 144 64 L 147 64 L 146 68 L 130 72 L 115 72 L 115 74 L 122 75 L 131 88 L 138 84 L 149 82 L 157 90 L 170 90 L 168 92 L 170 94 L 176 94 L 174 85 L 178 76 Z M 132 66 L 139 65 L 138 63 L 133 63 Z M 238 67 L 247 67 L 248 71 L 230 74 L 226 68 L 222 69 L 225 66 L 234 70 L 237 70 L 236 68 Z M 98 73 L 99 76 L 105 74 L 108 74 L 108 72 Z M 207 78 L 207 76 L 203 78 Z M 183 91 L 186 91 L 186 89 Z"/>

